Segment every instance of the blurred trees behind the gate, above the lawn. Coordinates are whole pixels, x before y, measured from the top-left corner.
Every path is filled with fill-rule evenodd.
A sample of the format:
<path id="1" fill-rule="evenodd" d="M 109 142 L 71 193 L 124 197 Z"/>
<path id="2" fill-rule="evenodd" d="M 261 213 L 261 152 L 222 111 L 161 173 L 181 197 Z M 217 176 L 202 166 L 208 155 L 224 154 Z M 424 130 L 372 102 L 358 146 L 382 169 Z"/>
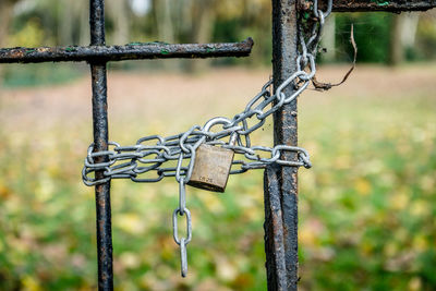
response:
<path id="1" fill-rule="evenodd" d="M 131 41 L 209 43 L 240 41 L 251 36 L 255 47 L 249 59 L 211 61 L 156 61 L 148 69 L 205 71 L 210 64 L 269 65 L 271 59 L 269 0 L 108 0 L 107 44 Z M 323 40 L 325 62 L 350 62 L 350 27 L 354 25 L 359 62 L 398 65 L 404 61 L 435 59 L 436 16 L 426 13 L 342 13 L 329 19 Z M 36 47 L 89 43 L 87 1 L 2 0 L 0 46 Z M 65 68 L 71 65 L 64 64 Z M 3 65 L 7 86 L 46 84 L 70 80 L 27 70 L 25 75 Z M 41 66 L 43 68 L 43 66 Z M 140 69 L 136 62 L 113 69 Z M 44 70 L 43 70 L 44 71 Z M 72 71 L 72 70 L 70 70 Z M 74 74 L 74 73 L 73 73 Z M 76 75 L 76 74 L 74 74 Z M 73 76 L 74 76 L 73 75 Z M 16 81 L 19 78 L 19 81 Z"/>

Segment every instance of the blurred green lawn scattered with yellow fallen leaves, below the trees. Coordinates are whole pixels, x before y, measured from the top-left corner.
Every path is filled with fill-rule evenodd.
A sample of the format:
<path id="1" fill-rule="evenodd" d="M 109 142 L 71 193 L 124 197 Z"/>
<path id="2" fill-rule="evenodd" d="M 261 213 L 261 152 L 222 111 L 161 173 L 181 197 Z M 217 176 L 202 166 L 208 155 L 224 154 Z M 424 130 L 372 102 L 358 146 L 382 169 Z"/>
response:
<path id="1" fill-rule="evenodd" d="M 400 84 L 404 76 L 397 81 L 398 87 L 391 86 L 387 69 L 370 68 L 363 71 L 388 84 L 362 85 L 367 76 L 358 71 L 342 90 L 303 96 L 300 141 L 312 154 L 314 168 L 300 171 L 301 290 L 436 289 L 435 72 L 411 70 L 392 73 L 397 76 L 391 78 L 424 70 L 421 74 L 427 75 L 427 82 L 404 89 Z M 246 75 L 246 85 L 238 83 L 242 87 L 238 94 L 245 99 L 220 99 L 226 92 L 206 98 L 191 81 L 201 78 L 202 86 L 226 90 L 227 83 L 216 76 L 235 83 L 235 74 L 238 81 Z M 112 136 L 130 144 L 142 135 L 171 134 L 189 128 L 192 120 L 205 121 L 204 107 L 211 116 L 214 108 L 231 116 L 247 101 L 245 87 L 257 89 L 256 80 L 267 77 L 249 71 L 217 75 L 156 76 L 171 86 L 189 83 L 189 94 L 206 99 L 185 104 L 189 114 L 165 114 L 171 105 L 153 104 L 160 118 L 117 109 L 110 112 Z M 120 77 L 110 76 L 109 84 L 111 78 Z M 109 98 L 113 107 L 133 102 L 122 92 L 129 87 L 123 82 L 120 88 L 109 85 L 109 96 L 119 94 Z M 0 93 L 0 290 L 96 288 L 94 193 L 80 177 L 92 136 L 89 89 L 82 83 L 85 112 L 68 108 L 73 99 L 62 104 L 63 111 L 58 107 L 38 111 L 50 108 L 40 96 L 53 95 L 49 99 L 53 102 L 70 95 L 80 99 L 71 87 Z M 270 141 L 270 131 L 269 123 L 255 141 Z M 220 195 L 187 190 L 194 234 L 186 279 L 179 276 L 179 252 L 171 233 L 177 183 L 171 179 L 146 185 L 114 181 L 117 290 L 265 290 L 262 177 L 262 171 L 232 177 Z"/>

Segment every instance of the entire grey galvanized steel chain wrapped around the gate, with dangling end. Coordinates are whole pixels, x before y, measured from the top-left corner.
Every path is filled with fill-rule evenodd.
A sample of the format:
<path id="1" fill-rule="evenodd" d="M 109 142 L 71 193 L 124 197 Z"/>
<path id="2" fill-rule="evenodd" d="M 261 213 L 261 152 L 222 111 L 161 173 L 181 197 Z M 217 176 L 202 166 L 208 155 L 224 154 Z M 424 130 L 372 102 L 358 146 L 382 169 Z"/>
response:
<path id="1" fill-rule="evenodd" d="M 325 19 L 331 13 L 332 0 L 328 0 L 326 11 L 318 10 L 317 0 L 313 1 L 313 14 L 300 15 L 299 56 L 296 58 L 296 72 L 281 83 L 272 94 L 269 80 L 261 92 L 246 105 L 245 109 L 232 119 L 214 118 L 204 126 L 194 125 L 186 132 L 159 136 L 150 135 L 140 138 L 135 145 L 121 146 L 111 142 L 109 149 L 94 151 L 90 145 L 85 158 L 82 171 L 83 181 L 86 185 L 97 185 L 111 179 L 131 179 L 134 182 L 150 183 L 158 182 L 166 177 L 175 177 L 179 182 L 179 207 L 172 214 L 173 237 L 180 245 L 182 276 L 186 276 L 186 245 L 192 238 L 191 213 L 185 206 L 185 185 L 190 181 L 195 165 L 196 150 L 202 144 L 208 144 L 228 148 L 239 155 L 232 161 L 230 174 L 243 173 L 250 169 L 265 168 L 270 163 L 282 166 L 311 168 L 308 153 L 301 147 L 277 145 L 275 147 L 254 146 L 251 144 L 250 135 L 262 128 L 266 119 L 284 105 L 292 102 L 303 90 L 307 88 L 316 73 L 315 58 L 317 54 L 320 34 Z M 284 88 L 293 87 L 293 93 L 286 96 Z M 255 120 L 249 125 L 249 121 Z M 213 132 L 213 128 L 221 129 Z M 235 141 L 229 142 L 235 136 Z M 234 138 L 233 138 L 234 140 Z M 283 153 L 295 154 L 295 160 L 286 160 Z M 267 153 L 268 158 L 261 154 Z M 107 157 L 105 162 L 96 162 L 97 157 Z M 166 166 L 173 161 L 174 165 Z M 187 162 L 184 162 L 187 161 Z M 96 171 L 104 171 L 104 179 L 97 180 L 90 177 Z M 153 173 L 154 175 L 146 175 Z M 178 217 L 186 218 L 186 237 L 179 238 Z"/>

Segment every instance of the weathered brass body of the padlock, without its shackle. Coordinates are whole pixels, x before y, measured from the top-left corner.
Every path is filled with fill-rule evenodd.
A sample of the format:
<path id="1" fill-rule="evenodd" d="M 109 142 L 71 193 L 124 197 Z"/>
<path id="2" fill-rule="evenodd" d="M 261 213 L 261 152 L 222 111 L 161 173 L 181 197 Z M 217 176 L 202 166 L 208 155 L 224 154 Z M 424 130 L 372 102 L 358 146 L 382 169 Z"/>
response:
<path id="1" fill-rule="evenodd" d="M 233 162 L 231 149 L 202 144 L 195 151 L 195 163 L 189 185 L 225 192 Z"/>

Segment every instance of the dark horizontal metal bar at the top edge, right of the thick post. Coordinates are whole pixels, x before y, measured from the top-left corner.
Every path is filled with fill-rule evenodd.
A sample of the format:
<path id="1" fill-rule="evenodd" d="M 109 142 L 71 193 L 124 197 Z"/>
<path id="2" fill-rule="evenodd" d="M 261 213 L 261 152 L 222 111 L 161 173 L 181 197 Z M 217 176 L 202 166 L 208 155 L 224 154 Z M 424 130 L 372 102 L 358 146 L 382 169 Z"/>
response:
<path id="1" fill-rule="evenodd" d="M 327 0 L 318 0 L 319 9 L 325 10 Z M 308 10 L 311 1 L 300 0 L 300 9 Z M 436 0 L 334 0 L 334 12 L 364 11 L 425 11 L 436 7 Z"/>

